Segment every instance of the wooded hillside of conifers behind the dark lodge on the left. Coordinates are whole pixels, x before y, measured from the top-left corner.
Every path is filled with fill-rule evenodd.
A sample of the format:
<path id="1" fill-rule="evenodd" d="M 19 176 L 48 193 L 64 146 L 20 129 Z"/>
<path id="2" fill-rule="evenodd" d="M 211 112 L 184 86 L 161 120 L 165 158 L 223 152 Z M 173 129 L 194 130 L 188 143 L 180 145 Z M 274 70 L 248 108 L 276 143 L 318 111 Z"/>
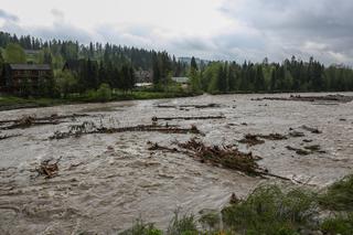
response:
<path id="1" fill-rule="evenodd" d="M 109 43 L 84 45 L 73 41 L 43 41 L 30 35 L 18 38 L 0 32 L 0 47 L 7 63 L 51 64 L 58 92 L 64 95 L 97 89 L 100 84 L 130 90 L 137 82 L 135 71 L 151 71 L 151 74 L 154 73 L 153 82 L 161 85 L 168 85 L 167 78 L 171 76 L 186 73 L 186 64 L 178 62 L 167 52 Z M 62 71 L 66 63 L 73 65 L 68 67 L 69 72 Z"/>

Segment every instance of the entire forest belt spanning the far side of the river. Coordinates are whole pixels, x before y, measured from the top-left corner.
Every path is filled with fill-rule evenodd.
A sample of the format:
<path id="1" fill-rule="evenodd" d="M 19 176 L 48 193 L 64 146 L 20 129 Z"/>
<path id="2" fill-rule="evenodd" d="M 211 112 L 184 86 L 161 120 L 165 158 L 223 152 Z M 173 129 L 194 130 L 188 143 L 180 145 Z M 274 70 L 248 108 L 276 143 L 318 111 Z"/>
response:
<path id="1" fill-rule="evenodd" d="M 190 77 L 190 90 L 232 92 L 338 92 L 353 90 L 353 71 L 342 65 L 325 67 L 309 62 L 286 60 L 282 63 L 211 62 L 193 57 L 184 63 L 167 52 L 106 43 L 79 44 L 73 41 L 43 41 L 0 32 L 0 70 L 8 63 L 49 63 L 55 73 L 55 87 L 62 95 L 98 89 L 101 84 L 130 90 L 137 81 L 135 71 L 150 71 L 158 89 L 169 90 L 171 77 Z M 34 50 L 29 53 L 24 50 Z M 75 62 L 69 71 L 65 63 Z"/>

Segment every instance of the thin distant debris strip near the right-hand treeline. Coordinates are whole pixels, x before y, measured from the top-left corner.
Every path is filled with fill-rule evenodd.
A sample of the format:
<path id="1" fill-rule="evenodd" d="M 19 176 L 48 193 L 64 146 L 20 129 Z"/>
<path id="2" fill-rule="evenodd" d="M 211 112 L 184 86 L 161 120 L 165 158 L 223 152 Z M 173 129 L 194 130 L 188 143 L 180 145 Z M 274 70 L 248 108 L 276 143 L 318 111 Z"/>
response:
<path id="1" fill-rule="evenodd" d="M 344 95 L 328 95 L 328 96 L 301 96 L 291 95 L 290 97 L 264 97 L 252 100 L 284 100 L 284 102 L 330 102 L 330 103 L 350 103 L 353 100 L 353 96 Z"/>

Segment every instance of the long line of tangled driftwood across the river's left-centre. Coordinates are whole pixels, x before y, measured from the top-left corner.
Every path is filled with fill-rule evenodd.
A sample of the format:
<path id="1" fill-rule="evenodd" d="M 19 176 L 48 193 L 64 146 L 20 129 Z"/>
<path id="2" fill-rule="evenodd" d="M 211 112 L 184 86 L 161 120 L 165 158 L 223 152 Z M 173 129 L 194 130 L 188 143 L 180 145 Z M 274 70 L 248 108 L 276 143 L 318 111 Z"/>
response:
<path id="1" fill-rule="evenodd" d="M 69 137 L 81 137 L 83 135 L 93 135 L 93 133 L 118 133 L 118 132 L 129 132 L 129 131 L 151 131 L 151 132 L 162 132 L 162 133 L 195 133 L 203 135 L 195 125 L 192 125 L 190 128 L 180 128 L 179 126 L 171 125 L 138 125 L 132 127 L 97 127 L 94 122 L 85 121 L 82 125 L 71 126 L 67 132 L 55 131 L 50 139 L 65 139 Z"/>

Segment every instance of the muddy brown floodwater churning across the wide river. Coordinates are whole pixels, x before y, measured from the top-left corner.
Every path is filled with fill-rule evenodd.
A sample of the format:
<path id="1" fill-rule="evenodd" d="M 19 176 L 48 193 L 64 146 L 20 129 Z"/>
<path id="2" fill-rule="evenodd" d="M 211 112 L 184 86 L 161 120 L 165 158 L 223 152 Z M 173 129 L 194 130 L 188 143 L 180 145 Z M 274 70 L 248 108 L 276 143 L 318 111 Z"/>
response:
<path id="1" fill-rule="evenodd" d="M 352 102 L 256 100 L 264 96 L 203 95 L 0 113 L 0 120 L 24 115 L 89 115 L 57 125 L 1 130 L 0 136 L 20 136 L 0 140 L 0 234 L 114 234 L 140 216 L 165 227 L 176 207 L 195 215 L 203 209 L 220 210 L 232 193 L 245 197 L 259 183 L 278 181 L 201 163 L 182 153 L 149 151 L 148 141 L 171 146 L 175 140 L 199 137 L 207 145 L 236 143 L 239 150 L 260 156 L 259 165 L 270 173 L 315 188 L 352 173 Z M 195 125 L 204 136 L 130 131 L 50 139 L 55 131 L 67 131 L 71 125 L 84 121 L 128 127 L 151 125 L 154 116 L 225 118 L 158 120 L 185 128 Z M 303 125 L 318 128 L 320 133 Z M 238 142 L 246 133 L 290 131 L 301 133 L 285 140 L 265 139 L 265 143 L 255 146 Z M 314 145 L 321 151 L 298 154 L 290 150 Z M 41 162 L 57 159 L 56 177 L 36 177 Z"/>

